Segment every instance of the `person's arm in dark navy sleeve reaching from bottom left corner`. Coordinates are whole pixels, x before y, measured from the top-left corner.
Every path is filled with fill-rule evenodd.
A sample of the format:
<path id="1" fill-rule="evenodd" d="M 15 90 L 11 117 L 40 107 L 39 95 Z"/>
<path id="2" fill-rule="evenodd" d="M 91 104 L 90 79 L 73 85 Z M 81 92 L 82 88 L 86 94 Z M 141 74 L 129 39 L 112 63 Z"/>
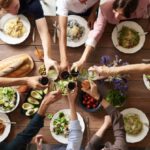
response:
<path id="1" fill-rule="evenodd" d="M 61 93 L 59 91 L 53 91 L 47 94 L 37 112 L 34 115 L 32 120 L 29 122 L 27 127 L 10 142 L 0 143 L 1 150 L 21 150 L 25 149 L 26 145 L 30 143 L 32 138 L 39 132 L 39 130 L 44 126 L 44 118 L 46 110 L 48 109 L 49 105 L 56 102 L 61 98 Z"/>

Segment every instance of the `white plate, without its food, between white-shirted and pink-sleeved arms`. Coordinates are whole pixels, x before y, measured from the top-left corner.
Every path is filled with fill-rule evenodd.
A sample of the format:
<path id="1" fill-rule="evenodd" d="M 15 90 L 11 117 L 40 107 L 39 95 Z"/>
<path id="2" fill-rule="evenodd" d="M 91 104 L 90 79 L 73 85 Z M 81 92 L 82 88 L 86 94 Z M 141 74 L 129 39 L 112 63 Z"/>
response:
<path id="1" fill-rule="evenodd" d="M 80 16 L 69 15 L 68 21 L 69 20 L 77 20 L 77 22 L 85 28 L 83 36 L 78 41 L 68 41 L 67 40 L 68 47 L 79 47 L 79 46 L 83 45 L 85 43 L 85 41 L 87 40 L 90 29 L 88 27 L 87 21 Z"/>

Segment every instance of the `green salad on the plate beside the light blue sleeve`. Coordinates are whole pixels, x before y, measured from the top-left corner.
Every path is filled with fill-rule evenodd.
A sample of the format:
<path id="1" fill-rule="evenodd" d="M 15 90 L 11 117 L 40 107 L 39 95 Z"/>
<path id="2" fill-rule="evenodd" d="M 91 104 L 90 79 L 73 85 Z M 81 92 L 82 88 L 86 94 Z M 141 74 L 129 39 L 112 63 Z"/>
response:
<path id="1" fill-rule="evenodd" d="M 53 132 L 64 137 L 69 135 L 69 117 L 63 112 L 60 112 L 58 118 L 53 121 Z"/>

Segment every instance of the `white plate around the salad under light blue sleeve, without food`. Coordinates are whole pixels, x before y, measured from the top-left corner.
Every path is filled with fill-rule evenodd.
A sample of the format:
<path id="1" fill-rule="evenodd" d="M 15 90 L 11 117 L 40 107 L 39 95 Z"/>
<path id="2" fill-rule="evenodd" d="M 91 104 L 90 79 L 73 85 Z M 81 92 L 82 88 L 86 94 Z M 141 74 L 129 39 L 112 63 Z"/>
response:
<path id="1" fill-rule="evenodd" d="M 63 143 L 63 144 L 67 144 L 68 143 L 68 137 L 64 137 L 62 135 L 56 135 L 54 132 L 53 132 L 53 121 L 58 118 L 59 116 L 59 113 L 60 112 L 63 112 L 65 115 L 70 115 L 70 109 L 62 109 L 60 111 L 58 111 L 52 118 L 51 122 L 50 122 L 50 131 L 51 131 L 51 134 L 53 136 L 53 138 L 55 140 L 57 140 L 58 142 L 60 143 Z M 84 132 L 85 130 L 85 124 L 84 124 L 84 121 L 83 121 L 83 118 L 81 117 L 81 115 L 79 113 L 77 113 L 77 116 L 78 116 L 78 120 L 80 122 L 80 125 L 81 125 L 81 128 L 82 128 L 82 132 Z"/>

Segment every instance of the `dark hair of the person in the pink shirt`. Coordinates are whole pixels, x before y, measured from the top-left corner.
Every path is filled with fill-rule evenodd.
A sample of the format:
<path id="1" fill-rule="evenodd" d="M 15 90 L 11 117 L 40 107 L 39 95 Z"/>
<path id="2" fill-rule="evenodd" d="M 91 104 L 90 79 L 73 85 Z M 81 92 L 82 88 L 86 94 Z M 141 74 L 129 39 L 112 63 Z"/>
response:
<path id="1" fill-rule="evenodd" d="M 113 3 L 113 9 L 117 10 L 122 8 L 124 16 L 130 18 L 131 14 L 136 10 L 139 0 L 115 0 Z"/>

